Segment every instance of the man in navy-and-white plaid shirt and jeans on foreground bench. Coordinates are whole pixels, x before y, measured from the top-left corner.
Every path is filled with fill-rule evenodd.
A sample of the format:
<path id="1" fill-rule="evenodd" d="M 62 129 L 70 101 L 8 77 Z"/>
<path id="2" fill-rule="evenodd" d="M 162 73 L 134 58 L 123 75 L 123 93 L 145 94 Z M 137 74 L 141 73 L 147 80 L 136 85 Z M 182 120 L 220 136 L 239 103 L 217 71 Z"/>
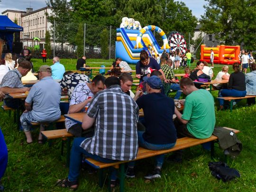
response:
<path id="1" fill-rule="evenodd" d="M 104 163 L 136 158 L 138 106 L 121 90 L 117 77 L 107 78 L 105 85 L 107 89 L 94 95 L 82 120 L 83 129 L 90 128 L 95 122 L 94 135 L 74 139 L 68 179 L 58 183 L 62 187 L 78 187 L 82 154 Z M 115 185 L 115 181 L 116 173 L 113 170 L 111 185 Z"/>

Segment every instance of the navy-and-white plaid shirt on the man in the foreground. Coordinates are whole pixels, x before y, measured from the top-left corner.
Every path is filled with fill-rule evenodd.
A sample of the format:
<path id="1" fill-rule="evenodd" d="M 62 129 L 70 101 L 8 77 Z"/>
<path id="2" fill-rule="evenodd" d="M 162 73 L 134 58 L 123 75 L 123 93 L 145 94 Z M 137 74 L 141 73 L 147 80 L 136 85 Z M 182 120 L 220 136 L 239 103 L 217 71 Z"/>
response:
<path id="1" fill-rule="evenodd" d="M 139 109 L 119 85 L 95 94 L 87 114 L 96 123 L 94 135 L 81 143 L 84 150 L 107 159 L 136 158 Z"/>

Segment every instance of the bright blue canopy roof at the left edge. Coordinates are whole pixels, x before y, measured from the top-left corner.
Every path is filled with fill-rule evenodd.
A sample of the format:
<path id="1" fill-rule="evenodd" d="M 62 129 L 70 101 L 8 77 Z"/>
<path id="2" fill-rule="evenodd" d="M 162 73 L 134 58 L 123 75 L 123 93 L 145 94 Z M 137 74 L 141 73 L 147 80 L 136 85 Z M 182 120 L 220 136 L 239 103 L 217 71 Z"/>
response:
<path id="1" fill-rule="evenodd" d="M 13 23 L 7 16 L 0 16 L 0 31 L 23 31 L 23 27 Z"/>

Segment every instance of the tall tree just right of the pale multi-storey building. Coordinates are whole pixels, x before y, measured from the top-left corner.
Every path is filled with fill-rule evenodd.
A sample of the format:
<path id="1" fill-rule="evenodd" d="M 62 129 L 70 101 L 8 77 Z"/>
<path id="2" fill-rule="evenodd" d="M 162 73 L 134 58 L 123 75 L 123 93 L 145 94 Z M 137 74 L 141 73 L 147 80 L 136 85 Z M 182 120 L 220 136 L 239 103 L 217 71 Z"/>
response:
<path id="1" fill-rule="evenodd" d="M 63 50 L 63 44 L 68 41 L 69 27 L 71 23 L 71 9 L 67 0 L 48 0 L 46 2 L 48 7 L 52 8 L 52 13 L 46 13 L 46 17 L 51 25 L 51 33 L 54 33 L 56 42 L 61 43 L 61 50 Z M 55 22 L 55 29 L 54 29 Z"/>

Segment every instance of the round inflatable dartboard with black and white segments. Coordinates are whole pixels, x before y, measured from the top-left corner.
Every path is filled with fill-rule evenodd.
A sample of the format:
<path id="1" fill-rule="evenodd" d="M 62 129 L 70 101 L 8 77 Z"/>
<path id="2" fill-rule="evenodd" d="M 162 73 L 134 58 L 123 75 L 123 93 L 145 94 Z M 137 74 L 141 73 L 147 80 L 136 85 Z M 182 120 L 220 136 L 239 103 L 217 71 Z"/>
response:
<path id="1" fill-rule="evenodd" d="M 168 35 L 168 43 L 171 50 L 179 50 L 179 52 L 182 54 L 185 54 L 187 51 L 187 43 L 185 38 L 177 31 L 173 31 Z"/>

